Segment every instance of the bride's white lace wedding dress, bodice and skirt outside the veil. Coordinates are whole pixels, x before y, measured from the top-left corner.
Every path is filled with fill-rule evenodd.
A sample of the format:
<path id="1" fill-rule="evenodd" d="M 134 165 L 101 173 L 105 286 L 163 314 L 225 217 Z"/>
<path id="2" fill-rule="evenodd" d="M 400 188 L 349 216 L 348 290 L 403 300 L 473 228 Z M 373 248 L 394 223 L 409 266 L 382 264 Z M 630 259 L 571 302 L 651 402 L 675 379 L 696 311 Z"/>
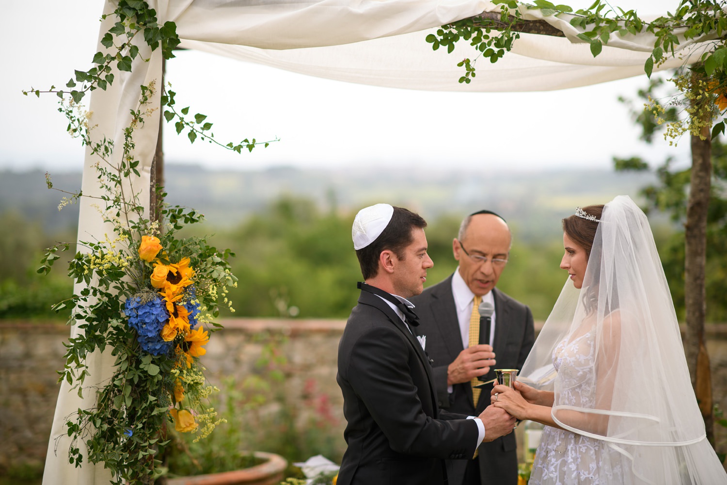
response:
<path id="1" fill-rule="evenodd" d="M 561 342 L 553 365 L 561 379 L 561 404 L 593 408 L 595 346 L 593 333 Z M 529 485 L 623 484 L 621 455 L 605 441 L 546 426 Z"/>

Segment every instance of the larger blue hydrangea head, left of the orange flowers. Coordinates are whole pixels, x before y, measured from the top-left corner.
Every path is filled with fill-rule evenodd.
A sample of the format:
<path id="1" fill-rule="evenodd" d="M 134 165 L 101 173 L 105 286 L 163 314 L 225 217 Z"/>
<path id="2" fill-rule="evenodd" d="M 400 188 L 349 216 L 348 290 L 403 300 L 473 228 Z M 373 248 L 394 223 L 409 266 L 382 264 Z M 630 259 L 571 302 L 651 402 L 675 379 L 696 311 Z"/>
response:
<path id="1" fill-rule="evenodd" d="M 137 332 L 142 350 L 153 356 L 169 352 L 172 342 L 164 342 L 161 338 L 161 329 L 169 320 L 169 312 L 160 296 L 156 295 L 145 303 L 142 303 L 141 297 L 129 298 L 124 305 L 124 313 L 129 326 Z"/>

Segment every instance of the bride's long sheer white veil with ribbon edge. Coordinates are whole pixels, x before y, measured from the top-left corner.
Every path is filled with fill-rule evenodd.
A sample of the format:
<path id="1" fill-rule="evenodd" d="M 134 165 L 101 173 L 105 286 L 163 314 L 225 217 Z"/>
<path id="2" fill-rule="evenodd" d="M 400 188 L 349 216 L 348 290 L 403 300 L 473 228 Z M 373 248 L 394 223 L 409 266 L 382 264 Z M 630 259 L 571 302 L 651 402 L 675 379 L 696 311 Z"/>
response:
<path id="1" fill-rule="evenodd" d="M 603 207 L 600 223 L 588 223 L 598 228 L 582 289 L 566 281 L 522 380 L 554 391 L 553 418 L 561 427 L 618 452 L 624 483 L 727 483 L 705 438 L 646 215 L 618 196 Z M 587 334 L 590 358 L 569 375 L 556 374 L 556 346 Z"/>

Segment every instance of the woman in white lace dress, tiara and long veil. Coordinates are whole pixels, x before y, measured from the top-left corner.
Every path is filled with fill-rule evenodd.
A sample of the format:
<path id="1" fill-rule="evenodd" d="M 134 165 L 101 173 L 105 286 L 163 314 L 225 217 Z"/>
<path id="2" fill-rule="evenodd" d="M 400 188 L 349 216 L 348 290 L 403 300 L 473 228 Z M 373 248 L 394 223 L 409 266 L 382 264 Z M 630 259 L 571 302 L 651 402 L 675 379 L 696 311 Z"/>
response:
<path id="1" fill-rule="evenodd" d="M 515 390 L 491 394 L 546 425 L 529 484 L 727 484 L 646 215 L 627 196 L 578 208 L 563 245 L 571 281 Z"/>

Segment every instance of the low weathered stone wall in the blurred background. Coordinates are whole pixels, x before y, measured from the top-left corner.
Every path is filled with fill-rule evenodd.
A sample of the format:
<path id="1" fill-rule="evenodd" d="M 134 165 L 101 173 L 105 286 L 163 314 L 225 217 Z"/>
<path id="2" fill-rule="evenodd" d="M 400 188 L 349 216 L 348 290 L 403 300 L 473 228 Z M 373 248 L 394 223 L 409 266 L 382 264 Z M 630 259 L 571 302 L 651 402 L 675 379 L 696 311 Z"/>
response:
<path id="1" fill-rule="evenodd" d="M 271 376 L 280 374 L 278 384 L 265 391 L 278 396 L 267 411 L 289 406 L 299 425 L 315 421 L 342 453 L 345 420 L 336 358 L 345 322 L 233 319 L 224 324 L 204 356 L 209 380 L 229 393 L 230 385 L 239 389 L 249 377 L 272 382 Z M 727 410 L 727 325 L 708 328 L 713 397 Z M 17 465 L 41 467 L 44 462 L 59 389 L 56 371 L 63 366 L 68 333 L 64 325 L 0 322 L 0 476 Z M 715 431 L 718 451 L 727 452 L 727 429 L 716 426 Z"/>

